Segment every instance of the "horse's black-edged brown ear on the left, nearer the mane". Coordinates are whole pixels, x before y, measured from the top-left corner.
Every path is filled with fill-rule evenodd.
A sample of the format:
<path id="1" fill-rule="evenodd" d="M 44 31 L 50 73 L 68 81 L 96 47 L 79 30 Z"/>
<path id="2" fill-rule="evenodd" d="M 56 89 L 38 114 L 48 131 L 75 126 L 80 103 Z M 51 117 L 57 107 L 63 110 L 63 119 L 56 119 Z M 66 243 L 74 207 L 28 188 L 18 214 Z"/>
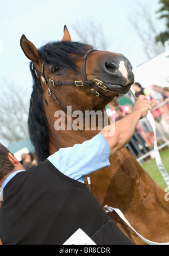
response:
<path id="1" fill-rule="evenodd" d="M 24 52 L 24 54 L 26 55 L 26 57 L 29 60 L 32 60 L 34 63 L 38 63 L 39 62 L 39 53 L 37 48 L 33 45 L 32 42 L 30 42 L 25 35 L 23 34 L 23 36 L 20 39 L 20 46 Z"/>

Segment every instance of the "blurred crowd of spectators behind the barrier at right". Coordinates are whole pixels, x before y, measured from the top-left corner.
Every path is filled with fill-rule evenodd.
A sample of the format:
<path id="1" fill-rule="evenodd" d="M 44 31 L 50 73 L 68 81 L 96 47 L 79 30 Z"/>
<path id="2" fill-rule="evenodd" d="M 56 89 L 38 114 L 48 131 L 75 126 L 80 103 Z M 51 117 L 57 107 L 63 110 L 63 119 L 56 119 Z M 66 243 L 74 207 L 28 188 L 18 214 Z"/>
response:
<path id="1" fill-rule="evenodd" d="M 169 143 L 169 87 L 160 87 L 152 85 L 144 89 L 140 83 L 135 82 L 132 85 L 132 91 L 135 96 L 145 95 L 149 101 L 152 101 L 154 110 L 152 115 L 155 120 L 156 135 L 158 144 Z M 131 95 L 131 102 L 135 99 Z M 114 98 L 107 106 L 106 111 L 110 120 L 115 122 L 132 111 L 133 104 L 120 105 L 117 98 Z M 135 134 L 130 143 L 127 144 L 128 149 L 135 156 L 139 157 L 141 152 L 149 152 L 153 149 L 154 134 L 152 127 L 146 117 L 140 120 L 136 127 Z M 169 147 L 169 145 L 168 145 Z M 146 151 L 146 152 L 145 152 Z"/>

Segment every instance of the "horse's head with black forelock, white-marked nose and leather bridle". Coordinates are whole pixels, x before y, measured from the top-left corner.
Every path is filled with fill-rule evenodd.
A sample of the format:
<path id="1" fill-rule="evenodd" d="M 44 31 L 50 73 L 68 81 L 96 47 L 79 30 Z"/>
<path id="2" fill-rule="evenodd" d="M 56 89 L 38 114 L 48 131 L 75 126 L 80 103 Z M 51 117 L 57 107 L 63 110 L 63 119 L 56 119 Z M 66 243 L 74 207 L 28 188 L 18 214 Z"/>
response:
<path id="1" fill-rule="evenodd" d="M 35 66 L 46 99 L 48 92 L 64 107 L 77 102 L 74 108 L 83 109 L 82 93 L 86 94 L 84 108 L 88 105 L 88 109 L 93 109 L 94 102 L 106 105 L 115 95 L 126 94 L 134 82 L 131 63 L 122 54 L 92 50 L 90 45 L 72 42 L 66 26 L 60 42 L 37 50 L 23 35 L 20 45 Z"/>

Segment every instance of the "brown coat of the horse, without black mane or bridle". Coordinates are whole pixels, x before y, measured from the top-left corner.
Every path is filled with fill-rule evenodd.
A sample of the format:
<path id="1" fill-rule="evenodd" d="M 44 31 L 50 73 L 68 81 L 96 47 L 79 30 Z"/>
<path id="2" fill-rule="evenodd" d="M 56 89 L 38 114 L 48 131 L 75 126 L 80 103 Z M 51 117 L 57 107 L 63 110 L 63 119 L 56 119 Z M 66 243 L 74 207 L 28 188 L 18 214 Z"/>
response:
<path id="1" fill-rule="evenodd" d="M 62 41 L 71 41 L 66 27 Z M 113 90 L 113 87 L 110 86 L 109 91 L 103 91 L 94 86 L 97 92 L 101 92 L 109 100 L 96 97 L 87 86 L 61 85 L 52 87 L 50 85 L 50 88 L 52 87 L 51 90 L 57 95 L 57 99 L 62 104 L 57 105 L 48 94 L 48 86 L 41 81 L 42 61 L 37 48 L 24 36 L 21 38 L 21 47 L 25 55 L 33 61 L 45 100 L 48 103 L 46 104 L 45 100 L 43 100 L 48 123 L 50 155 L 60 148 L 71 147 L 75 143 L 82 143 L 99 133 L 97 120 L 95 130 L 55 130 L 55 112 L 59 110 L 64 111 L 67 117 L 67 113 L 62 105 L 65 108 L 72 106 L 72 112 L 77 109 L 83 113 L 86 110 L 104 110 L 105 106 L 115 95 L 127 93 L 131 83 L 134 82 L 131 67 L 129 67 L 130 63 L 122 55 L 113 54 L 112 52 L 94 51 L 88 55 L 86 60 L 88 80 L 97 78 L 101 81 L 109 80 L 109 83 L 111 83 L 118 78 L 117 72 L 119 70 L 121 76 L 125 78 L 123 85 L 115 87 L 117 83 L 112 82 L 115 89 Z M 81 68 L 81 73 L 82 59 L 81 57 L 76 61 L 78 67 Z M 113 60 L 116 62 L 119 60 L 119 68 L 115 68 L 117 65 L 110 63 Z M 52 72 L 52 64 L 45 64 L 45 76 L 48 79 L 59 81 L 82 80 L 82 74 L 75 75 L 72 70 L 61 70 L 60 73 Z M 112 94 L 110 90 L 113 90 L 116 94 Z M 74 120 L 75 118 L 72 117 L 71 123 Z M 150 178 L 126 147 L 110 157 L 109 161 L 110 167 L 105 167 L 90 175 L 94 196 L 102 206 L 107 204 L 113 208 L 119 208 L 131 226 L 146 239 L 154 242 L 169 242 L 169 203 L 164 200 L 166 193 Z M 110 214 L 110 218 L 114 220 L 117 226 L 134 244 L 145 244 L 134 232 L 124 226 L 123 221 L 116 214 L 114 216 Z"/>

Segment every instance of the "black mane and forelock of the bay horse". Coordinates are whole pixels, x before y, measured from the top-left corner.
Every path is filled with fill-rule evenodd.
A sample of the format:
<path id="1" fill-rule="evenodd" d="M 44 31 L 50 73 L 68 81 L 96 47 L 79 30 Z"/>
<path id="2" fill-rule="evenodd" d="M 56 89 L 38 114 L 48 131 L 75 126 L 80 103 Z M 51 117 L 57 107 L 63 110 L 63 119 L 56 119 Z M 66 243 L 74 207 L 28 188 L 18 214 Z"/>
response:
<path id="1" fill-rule="evenodd" d="M 79 70 L 74 61 L 77 60 L 79 56 L 83 56 L 90 48 L 91 46 L 79 42 L 59 41 L 47 43 L 47 45 L 39 48 L 38 52 L 43 63 L 58 64 L 77 73 Z M 50 156 L 47 117 L 43 106 L 44 95 L 42 87 L 38 81 L 32 62 L 30 63 L 30 71 L 33 77 L 33 92 L 30 98 L 28 130 L 38 162 L 42 162 Z"/>

